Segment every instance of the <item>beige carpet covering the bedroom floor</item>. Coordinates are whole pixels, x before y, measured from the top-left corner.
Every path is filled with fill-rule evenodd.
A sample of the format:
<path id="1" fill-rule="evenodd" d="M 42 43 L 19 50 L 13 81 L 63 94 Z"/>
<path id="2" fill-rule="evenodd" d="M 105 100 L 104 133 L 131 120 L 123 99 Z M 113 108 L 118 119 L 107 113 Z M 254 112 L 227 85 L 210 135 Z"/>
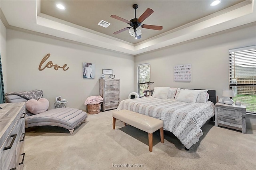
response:
<path id="1" fill-rule="evenodd" d="M 149 152 L 146 132 L 119 120 L 112 130 L 112 111 L 88 115 L 73 135 L 60 127 L 26 128 L 24 170 L 256 169 L 256 131 L 242 134 L 213 122 L 202 130 L 204 135 L 189 151 L 172 133 L 164 131 L 162 144 L 159 131 L 154 132 Z"/>

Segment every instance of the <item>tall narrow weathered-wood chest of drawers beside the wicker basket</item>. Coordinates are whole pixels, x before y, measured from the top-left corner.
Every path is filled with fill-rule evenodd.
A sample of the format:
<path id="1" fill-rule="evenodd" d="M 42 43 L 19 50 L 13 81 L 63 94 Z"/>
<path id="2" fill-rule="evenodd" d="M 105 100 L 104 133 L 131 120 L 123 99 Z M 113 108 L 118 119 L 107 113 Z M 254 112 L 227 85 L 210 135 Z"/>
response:
<path id="1" fill-rule="evenodd" d="M 120 79 L 100 79 L 101 111 L 116 109 L 120 102 Z"/>

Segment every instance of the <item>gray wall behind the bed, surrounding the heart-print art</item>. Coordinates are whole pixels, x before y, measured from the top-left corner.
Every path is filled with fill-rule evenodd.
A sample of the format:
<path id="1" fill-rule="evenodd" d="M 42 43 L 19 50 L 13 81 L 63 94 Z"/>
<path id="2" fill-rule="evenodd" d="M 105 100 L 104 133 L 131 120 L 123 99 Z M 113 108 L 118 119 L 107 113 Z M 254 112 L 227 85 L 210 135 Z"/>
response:
<path id="1" fill-rule="evenodd" d="M 150 81 L 154 87 L 182 87 L 215 89 L 221 97 L 222 90 L 229 88 L 229 49 L 256 44 L 256 26 L 240 27 L 219 34 L 200 38 L 153 52 L 136 55 L 135 64 L 150 63 Z M 174 81 L 174 65 L 191 64 L 190 82 Z M 253 115 L 247 116 L 256 125 Z"/>

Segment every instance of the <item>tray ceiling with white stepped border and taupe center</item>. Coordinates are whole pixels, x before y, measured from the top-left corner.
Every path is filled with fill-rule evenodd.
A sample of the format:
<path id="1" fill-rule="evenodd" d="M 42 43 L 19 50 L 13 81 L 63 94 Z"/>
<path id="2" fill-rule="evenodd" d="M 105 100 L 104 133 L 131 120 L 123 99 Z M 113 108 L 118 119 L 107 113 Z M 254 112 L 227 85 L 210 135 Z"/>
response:
<path id="1" fill-rule="evenodd" d="M 136 55 L 168 45 L 192 40 L 222 30 L 256 22 L 255 0 L 1 0 L 0 8 L 8 28 L 22 28 L 80 43 Z M 56 3 L 66 10 L 59 10 Z M 163 26 L 161 31 L 141 28 L 136 40 L 127 31 L 113 32 L 129 25 L 110 18 L 114 14 L 131 20 L 133 4 L 138 4 L 136 18 L 147 8 L 154 10 L 142 24 Z M 1 19 L 3 18 L 1 15 Z M 104 20 L 108 28 L 98 26 Z"/>

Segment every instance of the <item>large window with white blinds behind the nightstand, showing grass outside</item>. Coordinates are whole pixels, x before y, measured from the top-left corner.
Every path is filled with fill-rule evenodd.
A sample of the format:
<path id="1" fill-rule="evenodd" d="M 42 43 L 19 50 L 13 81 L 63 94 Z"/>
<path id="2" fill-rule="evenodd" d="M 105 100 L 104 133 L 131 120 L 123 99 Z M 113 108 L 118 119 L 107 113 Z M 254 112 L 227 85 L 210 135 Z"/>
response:
<path id="1" fill-rule="evenodd" d="M 256 45 L 229 50 L 229 88 L 235 91 L 234 101 L 256 113 Z"/>

